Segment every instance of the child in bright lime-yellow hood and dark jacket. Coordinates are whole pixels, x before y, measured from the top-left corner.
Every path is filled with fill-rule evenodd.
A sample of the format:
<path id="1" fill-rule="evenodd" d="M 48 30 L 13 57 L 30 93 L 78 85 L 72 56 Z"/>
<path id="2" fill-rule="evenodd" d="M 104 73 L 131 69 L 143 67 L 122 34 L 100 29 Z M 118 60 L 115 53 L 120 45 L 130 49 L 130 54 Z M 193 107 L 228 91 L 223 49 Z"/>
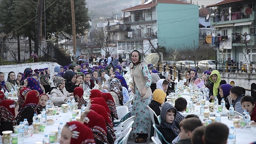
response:
<path id="1" fill-rule="evenodd" d="M 215 96 L 217 96 L 220 105 L 222 98 L 220 97 L 220 89 L 218 87 L 222 84 L 227 84 L 227 82 L 226 80 L 221 80 L 220 72 L 218 72 L 218 70 L 213 70 L 209 79 L 212 81 L 209 92 L 210 102 L 212 102 Z"/>

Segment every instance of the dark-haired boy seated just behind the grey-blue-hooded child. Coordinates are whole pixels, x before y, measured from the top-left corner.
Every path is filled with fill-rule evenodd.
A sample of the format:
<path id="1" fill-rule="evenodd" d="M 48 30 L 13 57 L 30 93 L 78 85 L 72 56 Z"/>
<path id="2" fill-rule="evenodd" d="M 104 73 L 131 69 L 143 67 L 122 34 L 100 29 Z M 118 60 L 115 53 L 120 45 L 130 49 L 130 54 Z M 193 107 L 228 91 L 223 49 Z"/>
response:
<path id="1" fill-rule="evenodd" d="M 177 112 L 177 116 L 176 116 L 174 122 L 179 129 L 180 129 L 180 126 L 179 126 L 180 122 L 185 119 L 183 112 L 186 111 L 187 104 L 188 104 L 188 102 L 185 98 L 180 97 L 175 100 L 174 107 L 176 108 L 176 110 L 178 112 Z"/>

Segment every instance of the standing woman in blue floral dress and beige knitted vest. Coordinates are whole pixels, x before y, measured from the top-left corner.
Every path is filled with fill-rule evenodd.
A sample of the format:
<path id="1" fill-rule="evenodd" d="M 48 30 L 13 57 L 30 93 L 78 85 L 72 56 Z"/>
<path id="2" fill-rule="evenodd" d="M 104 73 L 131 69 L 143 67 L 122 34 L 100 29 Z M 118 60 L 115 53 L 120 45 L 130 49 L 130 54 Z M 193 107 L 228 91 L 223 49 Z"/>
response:
<path id="1" fill-rule="evenodd" d="M 134 93 L 132 105 L 132 116 L 136 116 L 132 125 L 132 132 L 138 136 L 136 143 L 147 142 L 148 128 L 150 127 L 150 113 L 147 108 L 152 98 L 150 89 L 152 78 L 148 71 L 148 66 L 141 61 L 141 54 L 138 50 L 132 51 L 132 63 L 130 64 L 130 73 L 132 84 L 130 88 Z"/>

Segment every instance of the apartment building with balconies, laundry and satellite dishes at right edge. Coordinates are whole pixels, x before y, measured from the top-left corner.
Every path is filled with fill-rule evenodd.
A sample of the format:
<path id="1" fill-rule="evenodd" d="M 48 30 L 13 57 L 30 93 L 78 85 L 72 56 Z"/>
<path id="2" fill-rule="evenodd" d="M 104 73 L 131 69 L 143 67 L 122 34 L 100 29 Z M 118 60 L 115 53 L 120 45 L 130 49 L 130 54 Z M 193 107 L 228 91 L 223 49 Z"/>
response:
<path id="1" fill-rule="evenodd" d="M 212 45 L 219 62 L 256 62 L 256 0 L 222 0 L 212 8 Z"/>

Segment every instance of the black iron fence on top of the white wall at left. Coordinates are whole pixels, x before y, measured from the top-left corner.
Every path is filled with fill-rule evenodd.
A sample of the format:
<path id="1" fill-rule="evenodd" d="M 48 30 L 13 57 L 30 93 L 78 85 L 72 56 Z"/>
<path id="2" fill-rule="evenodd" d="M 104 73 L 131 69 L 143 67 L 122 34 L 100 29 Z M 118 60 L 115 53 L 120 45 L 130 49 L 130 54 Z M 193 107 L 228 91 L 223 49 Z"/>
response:
<path id="1" fill-rule="evenodd" d="M 38 53 L 35 53 L 32 40 L 0 38 L 0 65 L 31 62 L 57 62 L 65 66 L 70 64 L 70 58 L 48 41 L 40 41 Z"/>

